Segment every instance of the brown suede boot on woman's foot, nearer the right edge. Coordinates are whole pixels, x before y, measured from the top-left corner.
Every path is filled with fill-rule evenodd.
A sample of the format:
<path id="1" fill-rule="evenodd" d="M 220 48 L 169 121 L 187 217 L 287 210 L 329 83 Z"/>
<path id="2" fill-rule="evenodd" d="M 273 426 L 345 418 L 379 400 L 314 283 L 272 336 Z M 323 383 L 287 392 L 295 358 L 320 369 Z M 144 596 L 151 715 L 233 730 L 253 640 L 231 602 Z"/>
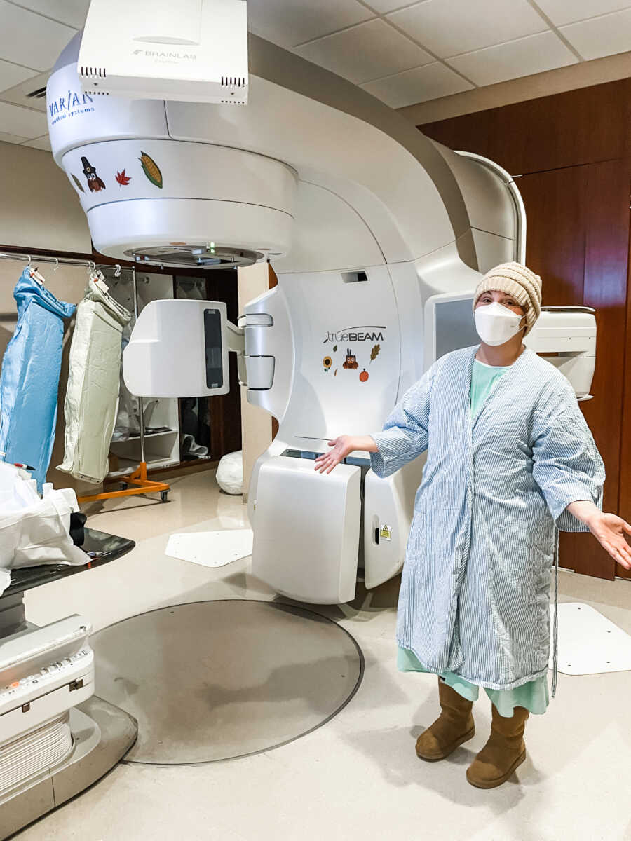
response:
<path id="1" fill-rule="evenodd" d="M 526 759 L 523 731 L 528 710 L 516 706 L 512 718 L 504 718 L 493 706 L 489 741 L 467 769 L 467 780 L 477 788 L 495 788 L 506 782 Z"/>

